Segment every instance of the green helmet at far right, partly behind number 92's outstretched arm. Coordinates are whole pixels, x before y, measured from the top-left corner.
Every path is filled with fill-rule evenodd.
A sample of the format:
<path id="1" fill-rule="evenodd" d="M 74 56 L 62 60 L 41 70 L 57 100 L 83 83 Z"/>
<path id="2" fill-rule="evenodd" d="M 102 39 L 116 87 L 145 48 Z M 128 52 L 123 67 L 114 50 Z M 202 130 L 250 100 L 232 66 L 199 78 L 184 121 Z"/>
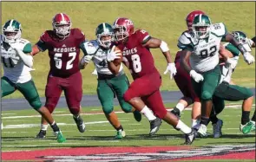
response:
<path id="1" fill-rule="evenodd" d="M 233 35 L 233 37 L 238 41 L 240 42 L 244 48 L 247 50 L 247 51 L 252 51 L 251 49 L 251 43 L 248 39 L 248 37 L 246 36 L 246 33 L 242 32 L 242 31 L 233 31 L 231 33 Z"/>

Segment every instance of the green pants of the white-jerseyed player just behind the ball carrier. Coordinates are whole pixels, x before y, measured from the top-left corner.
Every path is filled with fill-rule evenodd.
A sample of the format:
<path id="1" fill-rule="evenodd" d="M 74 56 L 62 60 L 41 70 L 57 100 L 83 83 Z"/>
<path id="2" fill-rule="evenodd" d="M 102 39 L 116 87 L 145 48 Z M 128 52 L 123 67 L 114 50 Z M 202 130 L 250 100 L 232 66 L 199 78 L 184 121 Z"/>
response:
<path id="1" fill-rule="evenodd" d="M 132 107 L 123 100 L 123 94 L 127 91 L 128 86 L 129 82 L 126 75 L 116 76 L 112 79 L 98 80 L 97 94 L 105 114 L 113 112 L 115 95 L 117 96 L 121 109 L 125 113 L 132 111 Z"/>

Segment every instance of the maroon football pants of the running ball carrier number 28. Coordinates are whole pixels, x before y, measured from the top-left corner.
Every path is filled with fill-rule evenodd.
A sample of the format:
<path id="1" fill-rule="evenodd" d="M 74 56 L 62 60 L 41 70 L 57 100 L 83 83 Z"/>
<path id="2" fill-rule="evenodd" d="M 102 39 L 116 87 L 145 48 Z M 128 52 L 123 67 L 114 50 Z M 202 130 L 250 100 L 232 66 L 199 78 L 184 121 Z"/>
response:
<path id="1" fill-rule="evenodd" d="M 159 73 L 144 75 L 131 83 L 123 98 L 128 101 L 135 97 L 141 97 L 141 100 L 153 111 L 154 115 L 162 119 L 167 114 L 167 110 L 161 99 L 160 87 L 161 75 Z"/>

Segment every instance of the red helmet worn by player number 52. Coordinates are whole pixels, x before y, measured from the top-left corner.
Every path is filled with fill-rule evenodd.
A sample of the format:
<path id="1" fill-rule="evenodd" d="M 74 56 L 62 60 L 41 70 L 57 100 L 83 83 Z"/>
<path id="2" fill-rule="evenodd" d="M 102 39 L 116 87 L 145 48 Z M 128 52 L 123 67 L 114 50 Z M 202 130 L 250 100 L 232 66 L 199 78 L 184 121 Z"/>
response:
<path id="1" fill-rule="evenodd" d="M 56 36 L 65 39 L 70 34 L 71 20 L 66 14 L 56 14 L 52 19 L 52 27 L 56 32 Z"/>

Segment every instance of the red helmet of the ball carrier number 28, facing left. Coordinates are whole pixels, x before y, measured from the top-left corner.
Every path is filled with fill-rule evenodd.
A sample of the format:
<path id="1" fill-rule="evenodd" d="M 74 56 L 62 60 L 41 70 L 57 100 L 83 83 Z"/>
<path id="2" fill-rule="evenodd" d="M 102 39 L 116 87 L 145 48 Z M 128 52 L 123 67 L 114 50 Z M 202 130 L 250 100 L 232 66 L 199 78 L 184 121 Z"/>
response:
<path id="1" fill-rule="evenodd" d="M 128 18 L 117 18 L 113 24 L 115 41 L 123 41 L 135 32 L 134 23 Z"/>

